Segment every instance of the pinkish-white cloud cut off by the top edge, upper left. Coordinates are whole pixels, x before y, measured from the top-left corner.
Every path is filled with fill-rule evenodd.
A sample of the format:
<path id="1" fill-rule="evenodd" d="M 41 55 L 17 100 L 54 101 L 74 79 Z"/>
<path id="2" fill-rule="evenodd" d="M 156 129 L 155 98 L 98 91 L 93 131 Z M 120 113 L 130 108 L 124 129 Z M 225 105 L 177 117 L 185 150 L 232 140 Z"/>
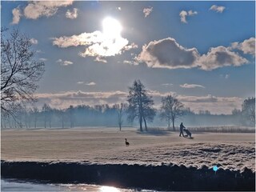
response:
<path id="1" fill-rule="evenodd" d="M 70 6 L 72 3 L 73 0 L 29 2 L 24 9 L 24 16 L 30 19 L 37 19 L 42 16 L 50 17 L 56 14 L 59 7 Z"/>

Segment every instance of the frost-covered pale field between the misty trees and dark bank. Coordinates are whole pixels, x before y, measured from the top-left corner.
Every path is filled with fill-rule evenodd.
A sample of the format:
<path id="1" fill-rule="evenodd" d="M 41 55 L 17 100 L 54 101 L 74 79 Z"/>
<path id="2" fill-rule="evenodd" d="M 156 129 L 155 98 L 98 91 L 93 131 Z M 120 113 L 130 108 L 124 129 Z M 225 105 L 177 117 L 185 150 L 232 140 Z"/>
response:
<path id="1" fill-rule="evenodd" d="M 5 161 L 86 162 L 95 164 L 203 165 L 255 171 L 254 134 L 139 133 L 136 129 L 2 130 Z M 125 145 L 125 138 L 130 146 Z"/>

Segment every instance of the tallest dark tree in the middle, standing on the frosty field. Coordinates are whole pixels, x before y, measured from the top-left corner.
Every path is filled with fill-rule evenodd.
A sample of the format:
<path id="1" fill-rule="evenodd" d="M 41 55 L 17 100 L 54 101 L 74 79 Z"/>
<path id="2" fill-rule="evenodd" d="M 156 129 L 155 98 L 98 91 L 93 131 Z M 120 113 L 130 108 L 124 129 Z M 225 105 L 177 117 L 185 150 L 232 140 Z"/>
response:
<path id="1" fill-rule="evenodd" d="M 154 102 L 147 95 L 147 90 L 140 80 L 135 80 L 133 86 L 129 87 L 127 98 L 129 102 L 127 109 L 128 121 L 133 122 L 135 118 L 138 118 L 140 131 L 143 131 L 142 122 L 144 122 L 145 130 L 147 130 L 146 121 L 152 122 L 156 112 L 152 107 Z"/>

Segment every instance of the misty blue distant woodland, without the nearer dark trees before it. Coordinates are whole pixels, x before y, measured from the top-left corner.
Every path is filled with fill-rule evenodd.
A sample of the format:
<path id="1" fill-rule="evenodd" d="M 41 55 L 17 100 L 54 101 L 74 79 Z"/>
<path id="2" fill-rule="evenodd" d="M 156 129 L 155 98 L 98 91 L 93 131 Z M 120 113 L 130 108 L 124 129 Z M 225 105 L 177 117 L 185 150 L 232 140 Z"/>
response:
<path id="1" fill-rule="evenodd" d="M 167 96 L 165 97 L 167 98 Z M 163 98 L 163 100 L 165 100 Z M 169 99 L 167 99 L 169 100 Z M 245 102 L 248 99 L 245 100 Z M 250 98 L 250 101 L 253 99 Z M 254 103 L 254 102 L 253 102 Z M 253 108 L 253 107 L 251 107 Z M 122 126 L 139 126 L 139 118 L 134 118 L 134 122 L 128 121 L 127 110 L 128 104 L 95 105 L 95 106 L 70 106 L 66 109 L 54 109 L 49 105 L 44 104 L 38 108 L 36 106 L 20 107 L 15 113 L 15 120 L 12 116 L 2 116 L 2 128 L 7 127 L 26 127 L 26 128 L 48 128 L 48 127 L 74 127 L 74 126 L 118 126 L 119 130 Z M 168 109 L 168 108 L 167 108 Z M 254 126 L 250 122 L 250 116 L 247 116 L 244 110 L 234 110 L 234 114 L 210 114 L 209 111 L 199 111 L 195 114 L 189 108 L 182 111 L 179 122 L 186 122 L 188 126 Z M 163 111 L 167 113 L 163 116 Z M 235 111 L 237 111 L 235 113 Z M 243 111 L 243 112 L 242 112 Z M 169 130 L 172 126 L 170 119 L 170 110 L 155 110 L 154 122 L 150 122 L 150 126 L 166 126 Z M 165 121 L 164 121 L 165 120 Z M 175 121 L 176 122 L 176 121 Z M 145 122 L 142 123 L 143 126 Z M 177 123 L 176 123 L 177 125 Z M 146 130 L 146 129 L 145 129 Z"/>

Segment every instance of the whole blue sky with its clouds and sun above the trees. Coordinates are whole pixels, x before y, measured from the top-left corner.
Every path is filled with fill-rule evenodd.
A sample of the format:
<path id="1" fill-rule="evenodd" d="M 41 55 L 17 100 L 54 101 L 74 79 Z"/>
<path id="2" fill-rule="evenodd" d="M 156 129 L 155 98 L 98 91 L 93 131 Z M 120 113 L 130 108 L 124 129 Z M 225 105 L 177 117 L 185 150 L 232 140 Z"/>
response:
<path id="1" fill-rule="evenodd" d="M 1 26 L 45 62 L 38 104 L 126 102 L 140 79 L 155 107 L 231 114 L 255 96 L 255 2 L 1 1 Z"/>

